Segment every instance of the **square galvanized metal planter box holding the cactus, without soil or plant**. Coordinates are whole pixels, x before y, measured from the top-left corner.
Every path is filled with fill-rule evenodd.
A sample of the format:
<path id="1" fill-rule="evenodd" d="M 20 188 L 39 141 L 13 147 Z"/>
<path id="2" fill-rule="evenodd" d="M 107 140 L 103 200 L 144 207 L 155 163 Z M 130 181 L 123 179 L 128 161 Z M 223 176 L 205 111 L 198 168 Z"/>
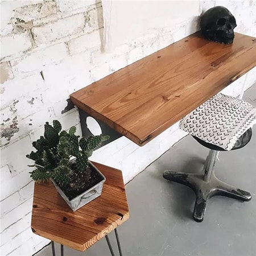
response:
<path id="1" fill-rule="evenodd" d="M 68 197 L 64 194 L 64 192 L 60 189 L 60 187 L 55 183 L 53 179 L 51 179 L 52 183 L 55 185 L 55 188 L 57 189 L 57 192 L 60 193 L 60 195 L 63 197 L 65 202 L 69 205 L 69 207 L 75 212 L 77 209 L 83 207 L 85 204 L 88 204 L 90 201 L 96 199 L 98 196 L 101 195 L 103 183 L 105 182 L 106 178 L 105 176 L 92 164 L 89 162 L 90 166 L 94 168 L 95 171 L 98 172 L 98 174 L 102 177 L 102 180 L 94 185 L 92 188 L 89 188 L 84 193 L 81 193 L 81 195 L 73 198 L 72 200 L 69 200 Z"/>

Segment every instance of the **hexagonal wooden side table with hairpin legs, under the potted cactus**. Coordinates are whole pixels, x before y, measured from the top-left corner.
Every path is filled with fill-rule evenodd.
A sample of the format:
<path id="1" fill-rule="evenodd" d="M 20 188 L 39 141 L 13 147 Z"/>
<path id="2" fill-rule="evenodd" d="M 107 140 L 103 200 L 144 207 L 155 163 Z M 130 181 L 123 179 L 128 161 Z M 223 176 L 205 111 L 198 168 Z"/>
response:
<path id="1" fill-rule="evenodd" d="M 122 255 L 117 226 L 129 218 L 125 185 L 120 170 L 93 163 L 105 175 L 102 195 L 73 212 L 54 185 L 48 181 L 35 183 L 31 229 L 39 236 L 61 244 L 61 256 L 68 246 L 85 251 L 102 237 L 106 237 L 110 253 L 114 255 L 108 233 L 115 230 L 119 254 Z"/>

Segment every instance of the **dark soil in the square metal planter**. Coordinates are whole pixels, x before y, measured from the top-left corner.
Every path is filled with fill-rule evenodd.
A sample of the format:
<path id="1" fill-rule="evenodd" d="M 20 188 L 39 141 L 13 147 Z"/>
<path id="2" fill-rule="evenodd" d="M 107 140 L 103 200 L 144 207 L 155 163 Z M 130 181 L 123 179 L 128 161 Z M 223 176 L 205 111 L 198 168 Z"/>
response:
<path id="1" fill-rule="evenodd" d="M 89 188 L 92 188 L 101 180 L 103 180 L 102 176 L 98 174 L 94 167 L 89 164 L 89 167 L 85 172 L 81 172 L 80 174 L 74 172 L 74 175 L 71 178 L 71 182 L 68 185 L 57 185 L 59 185 L 68 199 L 72 200 L 75 197 L 81 195 L 81 193 L 84 193 Z"/>

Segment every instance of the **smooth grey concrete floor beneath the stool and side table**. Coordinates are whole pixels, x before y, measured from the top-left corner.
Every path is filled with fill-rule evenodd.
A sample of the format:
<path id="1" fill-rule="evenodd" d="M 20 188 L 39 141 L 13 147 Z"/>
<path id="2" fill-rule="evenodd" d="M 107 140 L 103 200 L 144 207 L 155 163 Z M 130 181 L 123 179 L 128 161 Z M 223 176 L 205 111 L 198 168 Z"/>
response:
<path id="1" fill-rule="evenodd" d="M 255 105 L 255 86 L 244 97 Z M 221 152 L 216 176 L 249 191 L 251 201 L 216 196 L 210 199 L 204 221 L 192 219 L 193 191 L 163 179 L 164 170 L 200 172 L 208 150 L 191 136 L 183 138 L 126 185 L 130 219 L 119 226 L 123 256 L 253 256 L 256 255 L 256 126 L 246 147 Z M 114 232 L 110 240 L 118 255 Z M 56 255 L 60 255 L 56 245 Z M 67 256 L 108 256 L 105 239 L 84 253 L 64 247 Z M 47 246 L 37 256 L 51 255 Z"/>

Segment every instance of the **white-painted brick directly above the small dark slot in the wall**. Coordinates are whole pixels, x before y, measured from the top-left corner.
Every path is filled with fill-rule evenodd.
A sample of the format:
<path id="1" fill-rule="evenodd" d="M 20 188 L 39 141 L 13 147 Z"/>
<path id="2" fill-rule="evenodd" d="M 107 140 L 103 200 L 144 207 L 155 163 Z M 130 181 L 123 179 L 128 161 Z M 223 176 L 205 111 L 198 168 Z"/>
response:
<path id="1" fill-rule="evenodd" d="M 45 65 L 63 60 L 66 56 L 67 48 L 65 44 L 59 43 L 10 62 L 16 74 L 31 71 L 40 72 Z"/>

